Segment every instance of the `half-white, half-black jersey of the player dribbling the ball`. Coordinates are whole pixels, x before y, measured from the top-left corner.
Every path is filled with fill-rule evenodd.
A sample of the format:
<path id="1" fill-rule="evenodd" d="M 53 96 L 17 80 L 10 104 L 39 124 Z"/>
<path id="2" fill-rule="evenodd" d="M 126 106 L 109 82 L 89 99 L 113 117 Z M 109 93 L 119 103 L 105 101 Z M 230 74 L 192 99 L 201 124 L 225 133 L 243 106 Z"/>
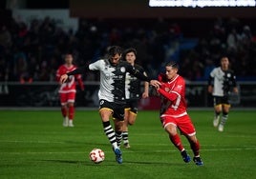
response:
<path id="1" fill-rule="evenodd" d="M 100 59 L 89 65 L 89 70 L 100 71 L 100 86 L 98 98 L 115 102 L 125 103 L 125 77 L 126 73 L 138 73 L 128 62 L 120 61 L 116 66 L 109 59 Z"/>

